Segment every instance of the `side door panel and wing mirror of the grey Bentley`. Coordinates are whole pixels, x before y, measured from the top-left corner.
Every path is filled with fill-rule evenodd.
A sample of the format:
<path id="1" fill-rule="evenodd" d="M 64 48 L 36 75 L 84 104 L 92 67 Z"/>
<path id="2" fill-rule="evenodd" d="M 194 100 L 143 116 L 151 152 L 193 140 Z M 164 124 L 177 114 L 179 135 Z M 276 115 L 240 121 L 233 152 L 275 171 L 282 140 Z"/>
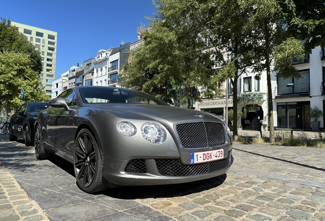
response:
<path id="1" fill-rule="evenodd" d="M 75 93 L 72 89 L 64 91 L 58 97 L 65 99 L 69 107 L 76 105 L 73 102 Z M 62 152 L 64 156 L 69 151 L 69 115 L 71 111 L 66 111 L 64 107 L 52 107 L 47 110 L 47 130 L 49 142 L 58 152 Z"/>

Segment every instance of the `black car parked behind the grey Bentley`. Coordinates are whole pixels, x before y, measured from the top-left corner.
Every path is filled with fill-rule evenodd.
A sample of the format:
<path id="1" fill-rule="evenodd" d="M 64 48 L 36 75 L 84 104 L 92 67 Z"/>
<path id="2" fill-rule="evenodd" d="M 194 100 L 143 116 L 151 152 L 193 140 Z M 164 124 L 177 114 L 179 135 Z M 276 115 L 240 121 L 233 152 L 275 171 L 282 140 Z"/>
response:
<path id="1" fill-rule="evenodd" d="M 9 140 L 24 138 L 26 146 L 34 145 L 34 123 L 37 115 L 50 106 L 48 102 L 29 102 L 22 104 L 12 115 L 9 124 Z"/>

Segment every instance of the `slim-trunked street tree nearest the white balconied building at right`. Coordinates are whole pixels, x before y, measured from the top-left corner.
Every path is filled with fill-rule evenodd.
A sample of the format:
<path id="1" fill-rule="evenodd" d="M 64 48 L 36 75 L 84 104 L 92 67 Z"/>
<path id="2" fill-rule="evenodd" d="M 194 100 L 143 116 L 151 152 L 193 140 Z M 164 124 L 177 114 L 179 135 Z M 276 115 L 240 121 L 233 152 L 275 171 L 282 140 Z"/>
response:
<path id="1" fill-rule="evenodd" d="M 275 141 L 271 73 L 277 71 L 277 77 L 299 77 L 298 71 L 292 67 L 294 57 L 303 56 L 304 48 L 297 40 L 288 35 L 286 19 L 280 2 L 276 0 L 241 1 L 242 9 L 250 8 L 247 29 L 254 33 L 254 60 L 262 60 L 253 64 L 253 72 L 266 71 L 268 121 L 270 125 L 270 141 Z M 274 70 L 272 64 L 274 63 Z"/>

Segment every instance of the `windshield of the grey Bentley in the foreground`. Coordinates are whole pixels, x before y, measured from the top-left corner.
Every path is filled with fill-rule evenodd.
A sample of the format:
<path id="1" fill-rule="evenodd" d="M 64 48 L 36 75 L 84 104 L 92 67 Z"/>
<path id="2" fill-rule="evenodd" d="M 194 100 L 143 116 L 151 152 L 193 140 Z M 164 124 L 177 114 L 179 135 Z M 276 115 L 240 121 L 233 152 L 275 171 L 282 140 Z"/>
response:
<path id="1" fill-rule="evenodd" d="M 89 86 L 81 87 L 80 93 L 85 103 L 141 103 L 168 105 L 143 92 L 118 87 Z"/>

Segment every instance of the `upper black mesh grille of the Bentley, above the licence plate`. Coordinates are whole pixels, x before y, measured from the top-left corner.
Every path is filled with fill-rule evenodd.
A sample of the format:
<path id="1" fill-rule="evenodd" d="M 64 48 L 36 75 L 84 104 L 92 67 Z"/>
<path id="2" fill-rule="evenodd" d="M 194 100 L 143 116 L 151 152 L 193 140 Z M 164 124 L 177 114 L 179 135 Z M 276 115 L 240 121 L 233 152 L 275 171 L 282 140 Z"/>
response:
<path id="1" fill-rule="evenodd" d="M 183 148 L 202 148 L 226 142 L 223 125 L 218 122 L 190 122 L 176 125 Z"/>

